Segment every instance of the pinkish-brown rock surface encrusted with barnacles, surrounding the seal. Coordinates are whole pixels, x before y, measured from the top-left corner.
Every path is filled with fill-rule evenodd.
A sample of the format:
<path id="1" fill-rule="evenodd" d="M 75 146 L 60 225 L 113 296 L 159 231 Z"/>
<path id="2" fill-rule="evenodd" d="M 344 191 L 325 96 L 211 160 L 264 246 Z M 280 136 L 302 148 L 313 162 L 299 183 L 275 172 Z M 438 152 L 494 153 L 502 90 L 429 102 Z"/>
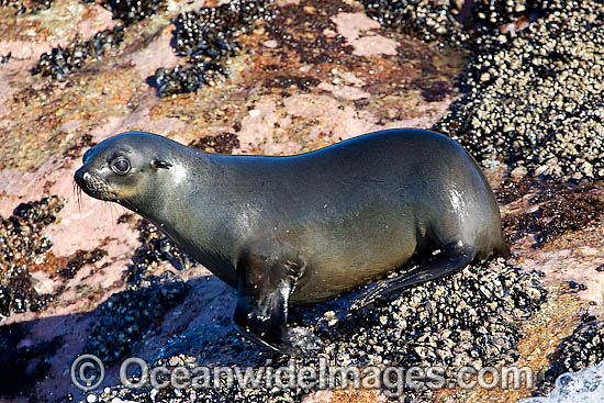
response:
<path id="1" fill-rule="evenodd" d="M 371 306 L 295 309 L 291 327 L 314 344 L 294 366 L 543 369 L 537 391 L 409 391 L 514 402 L 600 361 L 603 12 L 594 0 L 0 2 L 0 401 L 385 399 L 120 387 L 115 362 L 131 355 L 289 365 L 236 334 L 234 292 L 153 226 L 78 198 L 83 152 L 127 130 L 284 155 L 434 126 L 483 165 L 515 257 Z M 90 395 L 69 379 L 83 352 L 108 367 Z"/>

